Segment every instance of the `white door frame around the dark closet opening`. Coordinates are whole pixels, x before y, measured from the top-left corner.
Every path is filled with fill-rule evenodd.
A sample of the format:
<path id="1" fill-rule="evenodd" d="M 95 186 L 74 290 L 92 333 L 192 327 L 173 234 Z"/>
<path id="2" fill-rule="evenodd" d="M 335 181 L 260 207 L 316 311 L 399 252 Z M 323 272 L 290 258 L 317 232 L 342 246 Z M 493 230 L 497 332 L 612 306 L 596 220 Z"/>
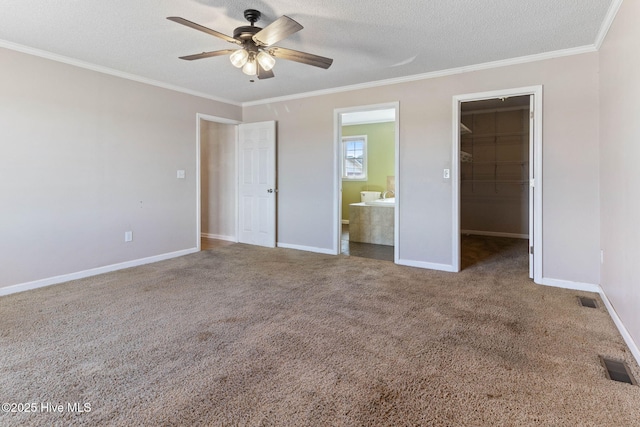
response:
<path id="1" fill-rule="evenodd" d="M 481 101 L 485 99 L 494 99 L 501 97 L 523 96 L 529 95 L 533 99 L 533 140 L 529 141 L 533 147 L 529 147 L 533 157 L 529 162 L 533 162 L 533 179 L 529 183 L 529 189 L 533 192 L 533 236 L 530 233 L 530 240 L 534 247 L 533 253 L 533 281 L 542 283 L 542 259 L 544 245 L 542 240 L 542 85 L 527 86 L 513 89 L 503 89 L 488 92 L 468 93 L 463 95 L 455 95 L 453 97 L 453 123 L 452 123 L 452 182 L 451 188 L 453 192 L 453 221 L 452 221 L 452 264 L 454 271 L 460 271 L 460 120 L 462 113 L 460 104 L 469 101 Z M 529 206 L 531 211 L 531 206 Z"/>

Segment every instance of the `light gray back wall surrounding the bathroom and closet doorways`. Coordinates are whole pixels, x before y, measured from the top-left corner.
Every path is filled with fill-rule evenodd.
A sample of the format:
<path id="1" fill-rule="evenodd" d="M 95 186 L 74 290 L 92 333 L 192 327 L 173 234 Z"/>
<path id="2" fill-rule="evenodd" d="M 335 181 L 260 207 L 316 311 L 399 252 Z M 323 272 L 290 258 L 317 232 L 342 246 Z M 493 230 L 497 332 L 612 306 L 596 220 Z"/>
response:
<path id="1" fill-rule="evenodd" d="M 245 107 L 245 121 L 278 120 L 278 242 L 334 246 L 334 109 L 399 101 L 399 257 L 451 265 L 452 97 L 532 85 L 544 85 L 543 276 L 599 283 L 597 53 Z"/>

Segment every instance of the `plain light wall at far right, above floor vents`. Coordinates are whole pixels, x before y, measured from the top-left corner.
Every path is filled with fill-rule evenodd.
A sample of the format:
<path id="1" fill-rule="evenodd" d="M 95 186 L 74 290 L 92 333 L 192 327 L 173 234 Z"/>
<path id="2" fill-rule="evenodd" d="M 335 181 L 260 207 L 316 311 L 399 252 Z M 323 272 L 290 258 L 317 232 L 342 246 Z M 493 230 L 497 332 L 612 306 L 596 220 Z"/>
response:
<path id="1" fill-rule="evenodd" d="M 623 2 L 600 49 L 601 286 L 636 345 L 640 343 L 638 22 L 640 2 Z"/>

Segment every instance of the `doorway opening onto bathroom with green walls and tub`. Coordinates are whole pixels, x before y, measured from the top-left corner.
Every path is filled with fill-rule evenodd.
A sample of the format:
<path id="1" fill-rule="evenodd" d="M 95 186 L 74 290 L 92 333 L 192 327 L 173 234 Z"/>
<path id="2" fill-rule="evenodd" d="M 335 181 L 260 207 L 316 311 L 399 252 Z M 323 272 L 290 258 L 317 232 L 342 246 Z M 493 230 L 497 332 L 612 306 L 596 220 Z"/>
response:
<path id="1" fill-rule="evenodd" d="M 336 253 L 397 261 L 398 103 L 335 110 Z"/>

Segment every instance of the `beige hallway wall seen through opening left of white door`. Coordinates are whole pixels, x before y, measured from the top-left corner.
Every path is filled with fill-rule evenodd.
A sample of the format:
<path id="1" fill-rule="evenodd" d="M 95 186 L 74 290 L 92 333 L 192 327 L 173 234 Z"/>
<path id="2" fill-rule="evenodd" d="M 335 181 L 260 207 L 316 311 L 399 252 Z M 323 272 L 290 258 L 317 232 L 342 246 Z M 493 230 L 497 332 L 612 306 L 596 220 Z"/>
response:
<path id="1" fill-rule="evenodd" d="M 236 125 L 200 121 L 201 232 L 235 240 Z"/>

